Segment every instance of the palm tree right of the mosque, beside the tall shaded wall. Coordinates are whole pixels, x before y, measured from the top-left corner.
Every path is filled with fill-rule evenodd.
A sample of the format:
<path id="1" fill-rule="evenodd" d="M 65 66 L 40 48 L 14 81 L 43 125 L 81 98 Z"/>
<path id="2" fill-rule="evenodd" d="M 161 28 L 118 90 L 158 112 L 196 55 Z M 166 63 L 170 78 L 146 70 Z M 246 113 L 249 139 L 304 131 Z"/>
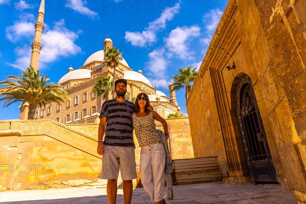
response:
<path id="1" fill-rule="evenodd" d="M 191 91 L 193 81 L 195 80 L 197 74 L 195 69 L 196 67 L 191 68 L 191 66 L 188 66 L 186 69 L 184 67 L 179 68 L 179 74 L 175 74 L 174 77 L 172 77 L 174 83 L 171 92 L 174 90 L 180 90 L 182 88 L 186 88 L 185 98 L 187 100 L 189 93 Z"/>

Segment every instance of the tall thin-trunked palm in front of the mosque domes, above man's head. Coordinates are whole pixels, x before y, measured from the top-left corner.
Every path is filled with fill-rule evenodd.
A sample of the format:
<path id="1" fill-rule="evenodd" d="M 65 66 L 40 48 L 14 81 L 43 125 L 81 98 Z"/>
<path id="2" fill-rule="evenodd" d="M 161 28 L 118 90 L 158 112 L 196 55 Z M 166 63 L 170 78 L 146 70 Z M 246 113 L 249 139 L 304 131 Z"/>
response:
<path id="1" fill-rule="evenodd" d="M 115 81 L 116 81 L 116 73 L 115 73 L 115 69 L 119 64 L 119 61 L 122 60 L 123 58 L 121 57 L 121 52 L 119 51 L 119 49 L 117 49 L 117 47 L 111 47 L 107 50 L 106 54 L 105 54 L 105 62 L 106 65 L 108 67 L 111 67 L 111 69 L 113 69 L 114 73 L 113 73 L 113 87 L 115 88 Z M 114 90 L 112 90 L 113 93 L 113 98 L 116 97 L 116 93 L 114 92 Z"/>

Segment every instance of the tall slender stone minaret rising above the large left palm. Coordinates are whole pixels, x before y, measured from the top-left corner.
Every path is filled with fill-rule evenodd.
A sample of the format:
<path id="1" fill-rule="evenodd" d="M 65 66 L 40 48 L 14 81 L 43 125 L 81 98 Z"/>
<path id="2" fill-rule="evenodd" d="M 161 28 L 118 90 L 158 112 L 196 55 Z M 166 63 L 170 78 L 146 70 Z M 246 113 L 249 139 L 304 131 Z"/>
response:
<path id="1" fill-rule="evenodd" d="M 42 35 L 42 30 L 44 29 L 44 24 L 43 24 L 44 7 L 45 7 L 45 1 L 41 0 L 37 15 L 37 21 L 35 23 L 35 35 L 34 35 L 34 41 L 32 43 L 32 55 L 30 62 L 30 66 L 32 66 L 36 70 L 38 70 L 39 55 L 40 55 L 40 50 L 42 48 L 41 35 Z"/>

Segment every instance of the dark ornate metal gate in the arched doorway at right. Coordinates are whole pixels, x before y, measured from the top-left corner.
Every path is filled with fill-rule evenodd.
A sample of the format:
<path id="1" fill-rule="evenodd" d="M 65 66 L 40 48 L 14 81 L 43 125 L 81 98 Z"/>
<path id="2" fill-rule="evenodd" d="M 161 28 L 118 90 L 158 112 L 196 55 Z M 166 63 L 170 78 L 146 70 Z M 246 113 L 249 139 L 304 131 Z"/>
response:
<path id="1" fill-rule="evenodd" d="M 236 114 L 251 181 L 275 182 L 270 149 L 252 83 L 247 74 L 242 74 L 236 85 Z"/>

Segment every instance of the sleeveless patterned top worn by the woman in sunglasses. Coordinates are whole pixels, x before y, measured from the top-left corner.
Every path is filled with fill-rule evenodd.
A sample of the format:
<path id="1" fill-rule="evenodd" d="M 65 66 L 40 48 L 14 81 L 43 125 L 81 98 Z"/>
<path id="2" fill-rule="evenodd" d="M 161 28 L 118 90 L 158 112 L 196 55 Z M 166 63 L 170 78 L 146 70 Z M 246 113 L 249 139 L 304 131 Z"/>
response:
<path id="1" fill-rule="evenodd" d="M 132 118 L 139 146 L 148 146 L 162 142 L 161 137 L 157 133 L 152 112 L 145 117 L 137 117 L 136 113 L 133 113 Z"/>

